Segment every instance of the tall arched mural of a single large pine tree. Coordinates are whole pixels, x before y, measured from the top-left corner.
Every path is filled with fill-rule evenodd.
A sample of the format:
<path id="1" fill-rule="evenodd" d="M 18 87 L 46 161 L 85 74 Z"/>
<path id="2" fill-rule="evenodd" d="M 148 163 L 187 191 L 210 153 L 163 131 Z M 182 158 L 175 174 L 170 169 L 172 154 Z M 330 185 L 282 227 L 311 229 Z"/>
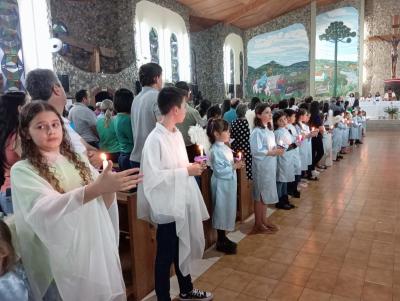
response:
<path id="1" fill-rule="evenodd" d="M 358 91 L 358 19 L 358 11 L 353 7 L 343 7 L 317 16 L 317 96 L 341 96 Z"/>

